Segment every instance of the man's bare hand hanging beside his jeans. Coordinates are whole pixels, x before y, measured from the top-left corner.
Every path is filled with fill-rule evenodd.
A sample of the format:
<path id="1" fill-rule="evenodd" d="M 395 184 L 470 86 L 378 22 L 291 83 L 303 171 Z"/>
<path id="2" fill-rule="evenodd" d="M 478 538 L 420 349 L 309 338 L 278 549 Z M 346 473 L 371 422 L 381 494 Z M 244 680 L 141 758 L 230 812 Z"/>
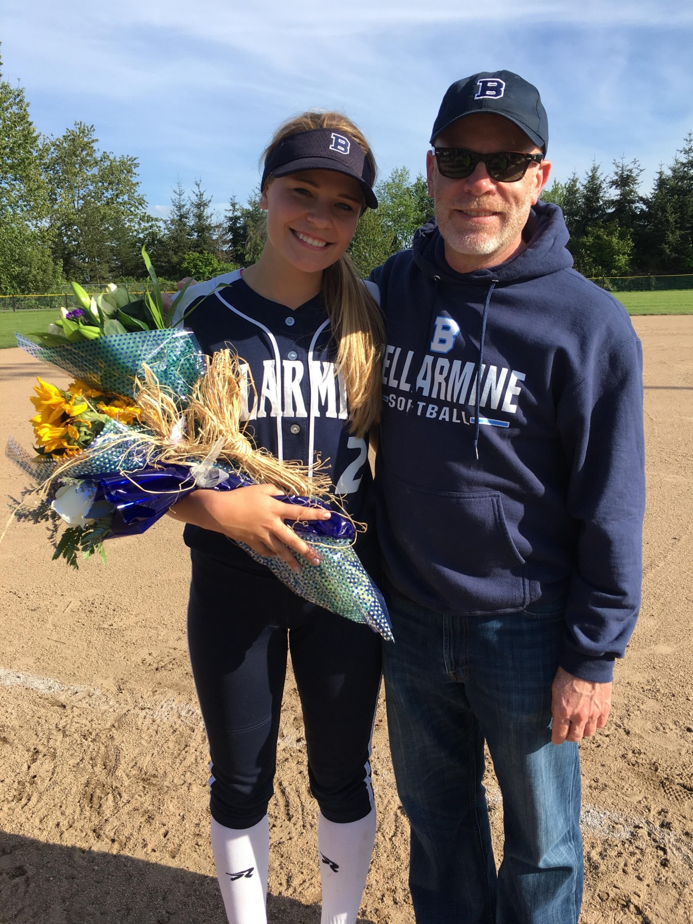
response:
<path id="1" fill-rule="evenodd" d="M 580 741 L 603 728 L 611 711 L 611 691 L 611 683 L 582 680 L 559 667 L 551 689 L 553 744 Z"/>

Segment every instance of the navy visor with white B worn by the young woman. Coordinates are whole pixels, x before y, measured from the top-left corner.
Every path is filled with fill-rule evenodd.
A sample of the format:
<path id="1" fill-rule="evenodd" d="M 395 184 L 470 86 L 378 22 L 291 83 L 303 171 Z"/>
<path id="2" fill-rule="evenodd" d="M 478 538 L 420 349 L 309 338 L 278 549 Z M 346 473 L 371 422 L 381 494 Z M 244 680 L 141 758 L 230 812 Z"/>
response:
<path id="1" fill-rule="evenodd" d="M 359 142 L 332 128 L 310 128 L 280 141 L 264 164 L 260 188 L 267 177 L 286 176 L 298 170 L 334 170 L 353 176 L 371 209 L 378 208 L 373 192 L 371 164 Z"/>

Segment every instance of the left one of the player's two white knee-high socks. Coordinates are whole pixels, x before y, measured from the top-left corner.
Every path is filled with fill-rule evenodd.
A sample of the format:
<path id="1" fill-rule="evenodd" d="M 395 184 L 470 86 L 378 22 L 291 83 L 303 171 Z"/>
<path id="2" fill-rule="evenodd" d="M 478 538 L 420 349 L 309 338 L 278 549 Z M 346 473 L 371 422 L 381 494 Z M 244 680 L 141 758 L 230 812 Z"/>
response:
<path id="1" fill-rule="evenodd" d="M 252 828 L 225 828 L 212 819 L 212 853 L 229 924 L 266 924 L 267 816 Z"/>

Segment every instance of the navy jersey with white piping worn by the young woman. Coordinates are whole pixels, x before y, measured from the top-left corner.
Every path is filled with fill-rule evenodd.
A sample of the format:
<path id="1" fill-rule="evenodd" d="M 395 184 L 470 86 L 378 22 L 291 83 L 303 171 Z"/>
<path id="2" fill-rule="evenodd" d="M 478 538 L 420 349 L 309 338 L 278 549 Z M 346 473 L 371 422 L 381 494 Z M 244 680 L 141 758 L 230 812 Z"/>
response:
<path id="1" fill-rule="evenodd" d="M 188 289 L 185 310 L 194 310 L 185 326 L 210 356 L 230 346 L 243 360 L 241 416 L 248 421 L 249 437 L 280 460 L 310 466 L 317 454 L 346 512 L 368 522 L 368 442 L 346 428 L 346 387 L 342 375 L 335 374 L 336 344 L 322 296 L 291 310 L 254 292 L 240 271 L 218 278 L 229 285 L 202 298 L 197 297 L 200 289 L 213 289 L 217 279 Z M 178 317 L 181 311 L 182 303 L 176 303 Z M 359 551 L 361 543 L 371 544 L 367 536 L 359 536 Z M 224 536 L 199 527 L 187 526 L 185 541 L 226 562 L 246 565 L 249 558 Z"/>

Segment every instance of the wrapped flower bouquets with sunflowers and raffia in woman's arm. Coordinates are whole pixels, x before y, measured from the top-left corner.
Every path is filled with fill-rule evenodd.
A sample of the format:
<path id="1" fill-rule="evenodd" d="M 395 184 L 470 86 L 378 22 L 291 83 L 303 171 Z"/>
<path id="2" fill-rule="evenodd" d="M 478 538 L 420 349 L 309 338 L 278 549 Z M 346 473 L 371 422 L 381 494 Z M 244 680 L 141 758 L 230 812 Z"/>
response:
<path id="1" fill-rule="evenodd" d="M 72 284 L 80 308 L 62 310 L 35 340 L 17 335 L 19 346 L 75 377 L 67 389 L 41 378 L 34 388 L 36 456 L 11 438 L 7 444 L 34 481 L 15 516 L 49 524 L 53 557 L 74 567 L 93 553 L 105 561 L 104 541 L 144 532 L 198 488 L 272 482 L 286 503 L 334 502 L 320 473 L 309 477 L 306 467 L 251 444 L 239 422 L 240 360 L 229 350 L 208 359 L 194 334 L 167 326 L 142 255 L 152 280 L 144 298 L 113 285 L 93 297 Z M 380 591 L 354 553 L 353 522 L 333 510 L 329 520 L 293 529 L 320 547 L 321 564 L 302 562 L 300 574 L 238 544 L 300 596 L 392 639 Z"/>

